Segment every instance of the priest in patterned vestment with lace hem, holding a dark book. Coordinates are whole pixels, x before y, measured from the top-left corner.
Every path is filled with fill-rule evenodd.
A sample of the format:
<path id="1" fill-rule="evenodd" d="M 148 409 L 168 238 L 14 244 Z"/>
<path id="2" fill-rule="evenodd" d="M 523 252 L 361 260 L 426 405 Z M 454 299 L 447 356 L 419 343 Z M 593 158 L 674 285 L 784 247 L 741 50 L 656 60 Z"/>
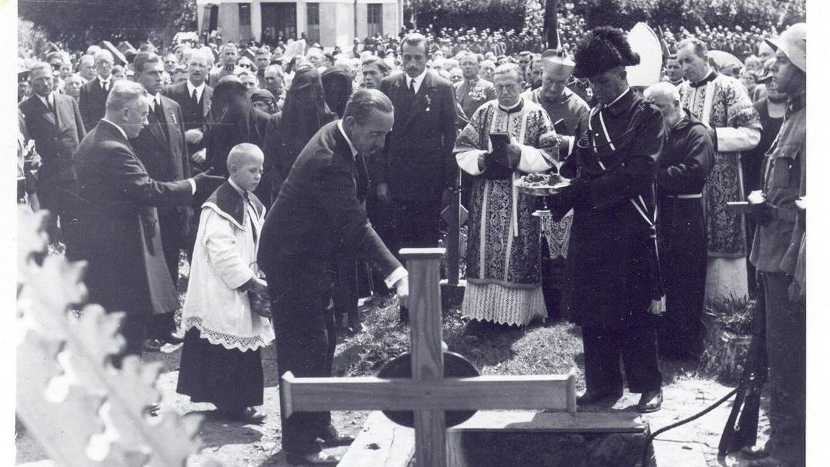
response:
<path id="1" fill-rule="evenodd" d="M 520 96 L 524 83 L 517 66 L 499 66 L 494 81 L 496 100 L 479 107 L 453 150 L 461 170 L 474 177 L 461 313 L 523 326 L 548 313 L 535 199 L 518 193 L 514 182 L 554 168 L 559 144 L 544 109 Z"/>

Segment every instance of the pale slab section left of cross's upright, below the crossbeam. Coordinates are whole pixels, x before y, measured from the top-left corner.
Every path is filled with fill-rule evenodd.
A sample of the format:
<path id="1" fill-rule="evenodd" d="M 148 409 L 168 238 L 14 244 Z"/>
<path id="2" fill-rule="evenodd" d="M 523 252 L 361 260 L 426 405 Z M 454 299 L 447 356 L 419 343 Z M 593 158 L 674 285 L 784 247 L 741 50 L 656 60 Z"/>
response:
<path id="1" fill-rule="evenodd" d="M 407 467 L 415 453 L 415 431 L 372 412 L 338 467 Z"/>

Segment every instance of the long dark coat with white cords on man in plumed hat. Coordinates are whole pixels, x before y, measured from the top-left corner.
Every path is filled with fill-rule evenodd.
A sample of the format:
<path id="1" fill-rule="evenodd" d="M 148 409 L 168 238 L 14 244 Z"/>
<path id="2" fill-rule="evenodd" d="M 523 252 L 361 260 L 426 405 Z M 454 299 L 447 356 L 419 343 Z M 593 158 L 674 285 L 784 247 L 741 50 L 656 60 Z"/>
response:
<path id="1" fill-rule="evenodd" d="M 585 116 L 577 140 L 587 137 L 588 147 L 574 148 L 560 169 L 576 179 L 574 187 L 550 202 L 559 215 L 574 209 L 564 288 L 571 319 L 583 327 L 621 327 L 644 319 L 649 301 L 662 296 L 654 229 L 632 199 L 645 204 L 653 223 L 664 123 L 660 110 L 633 91 L 601 112 L 615 150 L 604 144 L 598 112 Z"/>

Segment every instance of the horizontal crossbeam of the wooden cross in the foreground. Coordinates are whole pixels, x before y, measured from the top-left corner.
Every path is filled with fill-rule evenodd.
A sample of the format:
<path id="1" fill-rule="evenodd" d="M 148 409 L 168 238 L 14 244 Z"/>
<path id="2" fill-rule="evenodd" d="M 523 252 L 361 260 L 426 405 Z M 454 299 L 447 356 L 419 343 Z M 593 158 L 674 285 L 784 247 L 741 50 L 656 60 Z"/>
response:
<path id="1" fill-rule="evenodd" d="M 308 410 L 569 410 L 572 376 L 474 376 L 413 381 L 283 376 L 286 415 Z"/>

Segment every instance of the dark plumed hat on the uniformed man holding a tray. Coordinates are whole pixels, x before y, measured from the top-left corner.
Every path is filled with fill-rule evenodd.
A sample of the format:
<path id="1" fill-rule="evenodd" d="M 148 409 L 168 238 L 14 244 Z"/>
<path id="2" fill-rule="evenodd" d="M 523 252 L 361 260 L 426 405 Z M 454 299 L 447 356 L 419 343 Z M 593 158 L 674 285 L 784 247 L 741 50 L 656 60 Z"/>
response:
<path id="1" fill-rule="evenodd" d="M 610 26 L 593 28 L 577 44 L 574 53 L 574 76 L 588 78 L 618 66 L 640 64 L 622 29 Z"/>

